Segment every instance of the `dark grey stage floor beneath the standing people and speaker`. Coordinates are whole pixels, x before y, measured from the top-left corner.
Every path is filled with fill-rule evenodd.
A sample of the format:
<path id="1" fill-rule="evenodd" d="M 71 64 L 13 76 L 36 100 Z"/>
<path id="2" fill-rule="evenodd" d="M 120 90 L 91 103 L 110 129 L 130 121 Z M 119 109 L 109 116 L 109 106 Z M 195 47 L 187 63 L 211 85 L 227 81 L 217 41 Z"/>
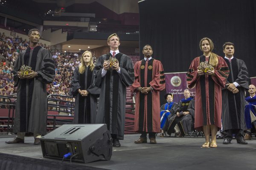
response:
<path id="1" fill-rule="evenodd" d="M 135 144 L 139 134 L 125 135 L 121 147 L 113 147 L 110 161 L 95 161 L 88 164 L 73 162 L 72 164 L 103 168 L 108 170 L 255 170 L 256 138 L 247 141 L 247 145 L 222 144 L 218 139 L 217 148 L 201 148 L 204 138 L 189 137 L 158 137 L 157 144 Z M 6 140 L 14 136 L 0 136 L 0 153 L 16 156 L 25 156 L 34 159 L 61 162 L 55 159 L 46 159 L 42 156 L 41 146 L 34 145 L 32 137 L 25 138 L 25 144 L 5 144 Z M 148 140 L 149 141 L 149 140 Z M 65 161 L 66 164 L 70 164 Z"/>

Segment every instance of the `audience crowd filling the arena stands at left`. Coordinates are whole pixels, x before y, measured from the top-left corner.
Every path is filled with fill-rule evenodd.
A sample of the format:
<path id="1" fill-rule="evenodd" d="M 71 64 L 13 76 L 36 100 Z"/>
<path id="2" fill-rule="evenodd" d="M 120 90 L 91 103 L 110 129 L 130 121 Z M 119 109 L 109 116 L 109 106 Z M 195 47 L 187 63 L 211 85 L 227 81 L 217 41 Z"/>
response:
<path id="1" fill-rule="evenodd" d="M 52 52 L 46 44 L 39 43 L 40 46 L 48 49 L 52 53 L 55 61 L 55 79 L 47 86 L 49 94 L 69 94 L 73 71 L 80 64 L 80 54 L 66 52 Z M 0 33 L 0 95 L 15 96 L 17 88 L 14 88 L 12 68 L 19 53 L 29 47 L 28 41 L 22 38 L 7 37 Z M 96 58 L 93 57 L 94 63 Z"/>

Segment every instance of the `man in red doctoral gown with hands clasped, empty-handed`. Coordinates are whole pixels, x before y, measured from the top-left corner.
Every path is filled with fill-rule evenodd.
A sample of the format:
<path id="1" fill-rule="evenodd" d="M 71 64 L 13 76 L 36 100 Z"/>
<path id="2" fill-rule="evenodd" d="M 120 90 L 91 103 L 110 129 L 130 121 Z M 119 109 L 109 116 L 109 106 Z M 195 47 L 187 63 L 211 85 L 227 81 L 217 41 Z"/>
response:
<path id="1" fill-rule="evenodd" d="M 151 144 L 156 144 L 156 133 L 160 133 L 160 95 L 165 89 L 163 65 L 153 59 L 152 47 L 145 45 L 144 59 L 134 65 L 134 83 L 131 91 L 136 93 L 134 131 L 140 132 L 135 143 L 147 143 L 147 133 Z"/>

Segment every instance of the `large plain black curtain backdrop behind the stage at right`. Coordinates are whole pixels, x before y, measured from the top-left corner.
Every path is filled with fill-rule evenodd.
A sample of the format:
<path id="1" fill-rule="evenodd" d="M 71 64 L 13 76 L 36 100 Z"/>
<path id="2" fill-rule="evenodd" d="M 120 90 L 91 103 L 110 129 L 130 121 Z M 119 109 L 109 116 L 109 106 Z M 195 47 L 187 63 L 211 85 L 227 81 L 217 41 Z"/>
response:
<path id="1" fill-rule="evenodd" d="M 139 9 L 140 50 L 151 45 L 165 73 L 188 71 L 192 59 L 203 54 L 200 40 L 209 37 L 222 57 L 224 42 L 233 42 L 234 57 L 256 77 L 255 0 L 144 0 Z"/>

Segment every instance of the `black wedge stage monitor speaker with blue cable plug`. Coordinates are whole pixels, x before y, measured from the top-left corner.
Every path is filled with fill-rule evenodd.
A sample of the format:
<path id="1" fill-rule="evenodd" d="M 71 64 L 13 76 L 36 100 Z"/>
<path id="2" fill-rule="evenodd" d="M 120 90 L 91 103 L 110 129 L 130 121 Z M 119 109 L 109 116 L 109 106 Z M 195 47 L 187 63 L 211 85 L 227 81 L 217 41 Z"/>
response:
<path id="1" fill-rule="evenodd" d="M 110 160 L 112 138 L 105 124 L 62 125 L 41 137 L 43 156 L 83 163 Z"/>

